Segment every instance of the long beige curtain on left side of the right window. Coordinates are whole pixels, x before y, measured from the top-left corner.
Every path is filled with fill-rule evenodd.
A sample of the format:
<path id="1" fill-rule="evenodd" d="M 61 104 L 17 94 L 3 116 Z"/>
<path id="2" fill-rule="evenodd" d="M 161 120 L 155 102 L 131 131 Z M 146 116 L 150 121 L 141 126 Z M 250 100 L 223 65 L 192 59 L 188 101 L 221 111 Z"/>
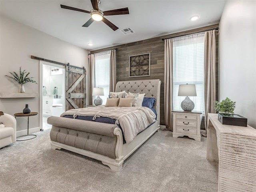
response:
<path id="1" fill-rule="evenodd" d="M 164 40 L 164 123 L 172 131 L 172 39 Z"/>

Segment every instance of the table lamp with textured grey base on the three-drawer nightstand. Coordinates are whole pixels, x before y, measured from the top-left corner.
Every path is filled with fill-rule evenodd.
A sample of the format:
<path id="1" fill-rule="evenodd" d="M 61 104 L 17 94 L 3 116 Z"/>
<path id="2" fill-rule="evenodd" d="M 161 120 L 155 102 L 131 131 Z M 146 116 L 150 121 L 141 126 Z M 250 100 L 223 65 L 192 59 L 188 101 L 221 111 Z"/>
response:
<path id="1" fill-rule="evenodd" d="M 192 111 L 195 104 L 188 96 L 196 96 L 196 85 L 195 84 L 184 84 L 179 86 L 178 96 L 186 96 L 181 102 L 181 108 L 184 111 Z"/>

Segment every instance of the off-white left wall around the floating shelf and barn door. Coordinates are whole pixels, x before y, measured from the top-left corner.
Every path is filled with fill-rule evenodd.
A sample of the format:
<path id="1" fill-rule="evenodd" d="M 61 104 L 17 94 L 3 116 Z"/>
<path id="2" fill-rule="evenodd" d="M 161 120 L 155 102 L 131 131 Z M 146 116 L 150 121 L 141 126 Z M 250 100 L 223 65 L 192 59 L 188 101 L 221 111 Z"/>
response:
<path id="1" fill-rule="evenodd" d="M 0 16 L 0 92 L 17 92 L 18 84 L 4 75 L 23 70 L 35 77 L 35 83 L 25 84 L 25 92 L 40 92 L 40 64 L 31 55 L 70 63 L 88 69 L 88 51 L 53 36 Z M 88 84 L 88 79 L 86 79 Z M 87 85 L 88 86 L 88 85 Z M 88 89 L 86 89 L 88 90 Z M 88 95 L 88 94 L 87 94 Z M 88 101 L 86 100 L 86 103 Z M 40 112 L 40 98 L 0 98 L 0 111 L 13 115 L 29 104 L 33 112 Z M 30 117 L 30 128 L 38 128 L 39 116 Z M 27 118 L 17 118 L 17 131 L 27 129 Z"/>

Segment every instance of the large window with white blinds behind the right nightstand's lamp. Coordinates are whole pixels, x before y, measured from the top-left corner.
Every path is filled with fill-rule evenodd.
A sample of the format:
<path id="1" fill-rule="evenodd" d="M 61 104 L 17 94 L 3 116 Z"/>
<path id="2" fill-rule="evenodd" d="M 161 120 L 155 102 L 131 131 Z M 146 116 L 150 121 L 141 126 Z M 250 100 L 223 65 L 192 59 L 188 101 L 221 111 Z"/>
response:
<path id="1" fill-rule="evenodd" d="M 204 112 L 204 32 L 173 38 L 173 108 L 182 110 L 180 84 L 195 84 L 193 111 Z"/>

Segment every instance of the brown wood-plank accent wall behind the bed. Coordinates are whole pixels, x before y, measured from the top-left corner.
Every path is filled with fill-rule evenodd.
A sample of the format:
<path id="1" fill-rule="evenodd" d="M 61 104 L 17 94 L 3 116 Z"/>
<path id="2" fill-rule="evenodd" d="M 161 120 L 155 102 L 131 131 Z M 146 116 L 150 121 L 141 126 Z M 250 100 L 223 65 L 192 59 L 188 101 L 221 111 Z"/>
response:
<path id="1" fill-rule="evenodd" d="M 113 46 L 110 48 L 94 50 L 94 51 L 91 51 L 90 53 L 95 54 L 98 52 L 118 48 L 118 50 L 116 51 L 116 82 L 126 81 L 126 80 L 160 79 L 162 81 L 161 92 L 160 92 L 160 124 L 164 125 L 164 41 L 162 40 L 162 38 L 172 38 L 176 36 L 203 32 L 206 30 L 217 28 L 218 26 L 219 26 L 218 24 L 215 24 L 215 25 L 188 30 L 184 32 L 178 32 L 178 33 L 174 33 L 166 36 L 160 36 L 160 37 L 141 40 L 141 41 L 132 42 L 128 44 Z M 217 47 L 217 43 L 218 43 L 218 40 L 216 38 L 216 47 Z M 151 66 L 150 76 L 129 78 L 129 55 L 144 54 L 148 52 L 150 52 L 150 66 Z M 217 52 L 217 48 L 216 48 L 216 52 Z M 216 54 L 216 62 L 218 61 L 217 56 L 218 54 Z M 216 70 L 217 70 L 217 67 L 216 67 Z M 217 86 L 216 86 L 216 89 L 217 89 Z"/>

